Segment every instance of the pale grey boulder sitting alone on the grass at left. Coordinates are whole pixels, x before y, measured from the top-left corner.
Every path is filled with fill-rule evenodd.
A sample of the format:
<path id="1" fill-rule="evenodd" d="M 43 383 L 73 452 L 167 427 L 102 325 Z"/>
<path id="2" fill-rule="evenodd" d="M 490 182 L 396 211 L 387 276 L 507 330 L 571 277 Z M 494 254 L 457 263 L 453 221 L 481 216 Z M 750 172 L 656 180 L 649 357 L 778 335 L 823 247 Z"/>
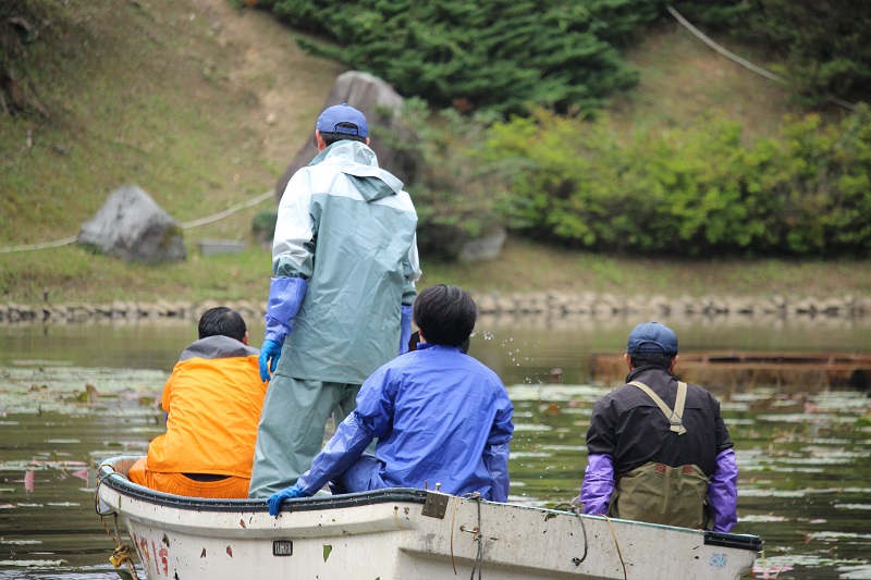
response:
<path id="1" fill-rule="evenodd" d="M 182 226 L 136 185 L 112 192 L 82 225 L 78 243 L 126 261 L 156 263 L 187 256 Z"/>

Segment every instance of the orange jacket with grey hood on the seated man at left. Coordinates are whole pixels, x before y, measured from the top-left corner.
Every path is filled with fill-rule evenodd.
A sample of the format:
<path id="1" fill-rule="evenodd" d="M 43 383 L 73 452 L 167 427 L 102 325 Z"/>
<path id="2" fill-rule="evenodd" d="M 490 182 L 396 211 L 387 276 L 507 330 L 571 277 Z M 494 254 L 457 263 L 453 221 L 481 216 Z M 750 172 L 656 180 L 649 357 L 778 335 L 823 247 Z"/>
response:
<path id="1" fill-rule="evenodd" d="M 184 350 L 163 386 L 167 433 L 148 446 L 149 471 L 252 477 L 268 385 L 258 354 L 228 336 Z"/>

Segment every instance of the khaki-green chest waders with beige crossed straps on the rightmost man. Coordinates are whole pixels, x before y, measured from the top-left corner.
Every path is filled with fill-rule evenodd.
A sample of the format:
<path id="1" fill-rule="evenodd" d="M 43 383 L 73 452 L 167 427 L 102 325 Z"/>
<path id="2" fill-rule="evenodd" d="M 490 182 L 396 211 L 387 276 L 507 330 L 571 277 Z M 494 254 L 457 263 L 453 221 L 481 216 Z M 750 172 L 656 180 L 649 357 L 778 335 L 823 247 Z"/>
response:
<path id="1" fill-rule="evenodd" d="M 674 409 L 649 386 L 638 381 L 629 383 L 643 391 L 671 423 L 671 430 L 679 435 L 687 432 L 683 424 L 687 384 L 677 383 Z M 617 479 L 611 494 L 609 515 L 614 518 L 679 526 L 706 528 L 706 495 L 708 478 L 695 465 L 668 467 L 649 461 Z"/>

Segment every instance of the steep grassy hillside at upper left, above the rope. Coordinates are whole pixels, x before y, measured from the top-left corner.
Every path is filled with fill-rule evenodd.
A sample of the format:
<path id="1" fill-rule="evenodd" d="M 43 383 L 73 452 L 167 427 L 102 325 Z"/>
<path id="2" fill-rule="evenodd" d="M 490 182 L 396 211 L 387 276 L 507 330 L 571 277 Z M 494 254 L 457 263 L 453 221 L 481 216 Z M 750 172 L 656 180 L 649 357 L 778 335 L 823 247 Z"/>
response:
<path id="1" fill-rule="evenodd" d="M 226 0 L 70 0 L 28 45 L 36 112 L 0 113 L 0 246 L 75 235 L 125 184 L 180 222 L 263 193 L 341 67 Z M 196 235 L 245 235 L 224 220 Z"/>

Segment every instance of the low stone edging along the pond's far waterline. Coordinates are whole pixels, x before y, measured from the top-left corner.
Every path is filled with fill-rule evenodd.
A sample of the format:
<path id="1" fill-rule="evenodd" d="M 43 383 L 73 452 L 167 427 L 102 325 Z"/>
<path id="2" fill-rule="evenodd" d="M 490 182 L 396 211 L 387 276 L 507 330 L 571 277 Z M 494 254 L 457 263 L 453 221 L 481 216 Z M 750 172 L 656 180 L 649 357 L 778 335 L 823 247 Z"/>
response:
<path id="1" fill-rule="evenodd" d="M 478 309 L 484 316 L 507 317 L 626 317 L 649 319 L 682 316 L 746 317 L 751 318 L 871 318 L 871 296 L 845 296 L 838 298 L 787 298 L 770 297 L 715 297 L 683 296 L 666 298 L 618 297 L 602 294 L 571 294 L 542 292 L 530 294 L 476 293 Z M 201 303 L 174 303 L 157 300 L 135 303 L 115 300 L 110 304 L 42 304 L 27 306 L 0 304 L 0 322 L 85 322 L 97 320 L 147 321 L 147 320 L 199 320 L 209 308 L 229 306 L 246 320 L 260 319 L 266 312 L 266 301 L 206 300 Z"/>

